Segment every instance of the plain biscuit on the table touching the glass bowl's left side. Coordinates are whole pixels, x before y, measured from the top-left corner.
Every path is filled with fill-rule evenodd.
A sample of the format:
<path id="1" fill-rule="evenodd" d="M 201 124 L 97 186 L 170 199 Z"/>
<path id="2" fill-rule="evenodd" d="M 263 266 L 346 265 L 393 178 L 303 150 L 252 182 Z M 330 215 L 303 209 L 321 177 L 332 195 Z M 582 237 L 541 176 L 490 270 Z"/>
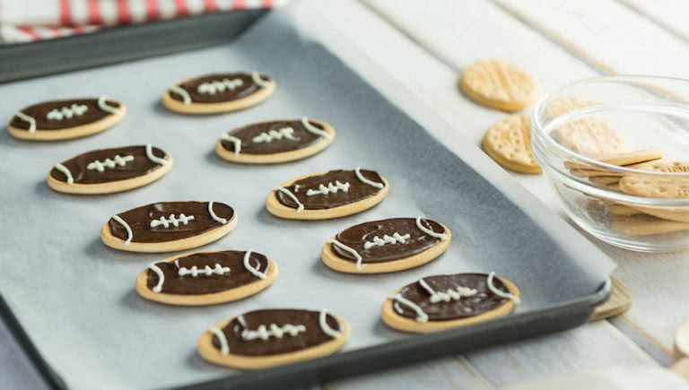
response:
<path id="1" fill-rule="evenodd" d="M 504 168 L 541 173 L 531 152 L 531 121 L 526 115 L 504 117 L 486 130 L 484 151 Z"/>

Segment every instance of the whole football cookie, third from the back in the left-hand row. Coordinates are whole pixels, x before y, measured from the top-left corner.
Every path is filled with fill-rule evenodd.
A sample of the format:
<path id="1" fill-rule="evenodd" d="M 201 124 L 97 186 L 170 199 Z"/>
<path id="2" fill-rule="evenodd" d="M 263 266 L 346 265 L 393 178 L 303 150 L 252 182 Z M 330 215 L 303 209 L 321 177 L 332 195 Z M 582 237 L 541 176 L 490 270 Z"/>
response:
<path id="1" fill-rule="evenodd" d="M 106 222 L 100 238 L 130 252 L 173 252 L 201 247 L 237 226 L 237 213 L 220 202 L 161 202 L 120 212 Z"/>

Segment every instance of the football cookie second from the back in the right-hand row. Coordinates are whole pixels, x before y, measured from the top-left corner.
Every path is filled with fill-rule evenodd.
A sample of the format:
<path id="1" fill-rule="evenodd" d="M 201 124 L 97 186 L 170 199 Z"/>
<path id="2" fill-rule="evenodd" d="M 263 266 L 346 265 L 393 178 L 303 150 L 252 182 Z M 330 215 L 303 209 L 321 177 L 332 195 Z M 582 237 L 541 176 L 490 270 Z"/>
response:
<path id="1" fill-rule="evenodd" d="M 333 142 L 335 129 L 316 119 L 258 122 L 223 133 L 215 152 L 223 160 L 275 164 L 312 156 Z"/>

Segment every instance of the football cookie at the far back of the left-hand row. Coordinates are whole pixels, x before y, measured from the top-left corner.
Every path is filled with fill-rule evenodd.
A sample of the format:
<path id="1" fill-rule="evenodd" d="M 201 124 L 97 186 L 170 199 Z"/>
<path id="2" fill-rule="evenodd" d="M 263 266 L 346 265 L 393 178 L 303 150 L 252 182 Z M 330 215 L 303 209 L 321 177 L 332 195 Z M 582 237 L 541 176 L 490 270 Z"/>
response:
<path id="1" fill-rule="evenodd" d="M 124 104 L 105 96 L 45 101 L 22 108 L 7 128 L 24 140 L 66 140 L 101 132 L 121 121 L 125 113 Z"/>

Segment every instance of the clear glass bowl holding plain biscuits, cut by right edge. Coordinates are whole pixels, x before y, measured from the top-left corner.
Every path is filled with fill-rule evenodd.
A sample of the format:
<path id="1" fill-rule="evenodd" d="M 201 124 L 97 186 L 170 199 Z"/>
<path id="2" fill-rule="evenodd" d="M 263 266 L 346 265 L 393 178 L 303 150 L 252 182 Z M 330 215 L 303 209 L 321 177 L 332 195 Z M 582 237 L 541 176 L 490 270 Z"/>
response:
<path id="1" fill-rule="evenodd" d="M 637 251 L 689 249 L 689 80 L 571 83 L 536 105 L 532 148 L 583 230 Z"/>

